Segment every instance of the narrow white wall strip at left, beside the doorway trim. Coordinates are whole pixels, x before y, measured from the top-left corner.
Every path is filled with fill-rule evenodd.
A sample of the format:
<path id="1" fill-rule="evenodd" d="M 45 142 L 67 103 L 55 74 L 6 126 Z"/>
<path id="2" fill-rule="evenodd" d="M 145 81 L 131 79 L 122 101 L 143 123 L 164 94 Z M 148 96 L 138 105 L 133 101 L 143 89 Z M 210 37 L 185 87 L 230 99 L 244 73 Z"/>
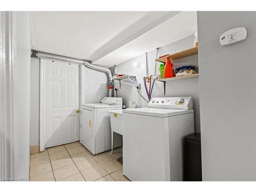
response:
<path id="1" fill-rule="evenodd" d="M 13 12 L 16 19 L 14 65 L 14 177 L 29 177 L 30 24 L 28 12 Z"/>

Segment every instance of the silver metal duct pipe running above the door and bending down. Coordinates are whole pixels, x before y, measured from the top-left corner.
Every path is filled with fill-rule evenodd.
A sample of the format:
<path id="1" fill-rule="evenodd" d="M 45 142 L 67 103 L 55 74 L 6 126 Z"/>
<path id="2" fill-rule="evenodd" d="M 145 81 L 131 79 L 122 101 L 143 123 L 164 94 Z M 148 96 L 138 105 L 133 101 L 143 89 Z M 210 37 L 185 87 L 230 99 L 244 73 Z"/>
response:
<path id="1" fill-rule="evenodd" d="M 57 60 L 62 60 L 62 61 L 67 61 L 67 62 L 73 62 L 73 63 L 77 63 L 78 65 L 84 65 L 90 69 L 105 72 L 109 75 L 110 86 L 113 85 L 113 76 L 112 76 L 110 69 L 92 65 L 92 63 L 87 60 L 77 59 L 77 58 L 73 58 L 73 57 L 66 57 L 66 56 L 61 56 L 61 55 L 55 55 L 55 54 L 51 54 L 51 53 L 39 52 L 39 51 L 35 51 L 35 50 L 31 50 L 31 57 L 57 59 Z"/>

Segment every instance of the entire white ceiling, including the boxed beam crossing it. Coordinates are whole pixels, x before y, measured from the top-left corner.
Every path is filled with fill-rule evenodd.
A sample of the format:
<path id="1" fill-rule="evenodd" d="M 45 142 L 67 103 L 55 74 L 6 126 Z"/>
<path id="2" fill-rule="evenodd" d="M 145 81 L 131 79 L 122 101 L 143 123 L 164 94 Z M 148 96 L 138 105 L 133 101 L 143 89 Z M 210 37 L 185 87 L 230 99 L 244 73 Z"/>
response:
<path id="1" fill-rule="evenodd" d="M 196 12 L 30 12 L 32 49 L 112 67 L 195 33 Z"/>

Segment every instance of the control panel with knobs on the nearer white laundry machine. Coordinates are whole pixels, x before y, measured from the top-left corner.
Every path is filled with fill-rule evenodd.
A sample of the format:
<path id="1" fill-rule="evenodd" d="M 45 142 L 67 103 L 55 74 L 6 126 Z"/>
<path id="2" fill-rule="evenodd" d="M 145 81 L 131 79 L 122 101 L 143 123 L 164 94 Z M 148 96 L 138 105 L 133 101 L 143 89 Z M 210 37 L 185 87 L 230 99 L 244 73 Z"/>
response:
<path id="1" fill-rule="evenodd" d="M 193 109 L 192 97 L 160 97 L 152 98 L 148 102 L 149 108 L 164 108 L 164 109 Z"/>

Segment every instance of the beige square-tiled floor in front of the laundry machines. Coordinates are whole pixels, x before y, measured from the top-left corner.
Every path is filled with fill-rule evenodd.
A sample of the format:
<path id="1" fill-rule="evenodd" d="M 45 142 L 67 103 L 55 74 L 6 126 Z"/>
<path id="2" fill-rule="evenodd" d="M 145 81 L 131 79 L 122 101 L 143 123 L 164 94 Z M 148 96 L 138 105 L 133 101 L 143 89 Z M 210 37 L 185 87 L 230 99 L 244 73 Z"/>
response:
<path id="1" fill-rule="evenodd" d="M 79 142 L 30 156 L 30 181 L 129 181 L 122 174 L 122 147 L 93 155 Z"/>

